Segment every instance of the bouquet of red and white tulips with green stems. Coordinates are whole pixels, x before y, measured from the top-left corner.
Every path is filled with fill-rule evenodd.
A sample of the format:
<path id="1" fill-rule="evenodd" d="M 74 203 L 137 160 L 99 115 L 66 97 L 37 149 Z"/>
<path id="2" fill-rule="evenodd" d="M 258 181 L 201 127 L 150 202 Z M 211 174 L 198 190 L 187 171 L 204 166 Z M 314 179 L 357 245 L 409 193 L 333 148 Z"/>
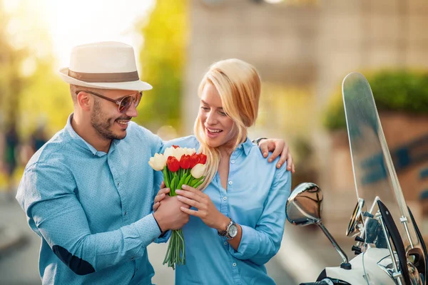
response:
<path id="1" fill-rule="evenodd" d="M 196 153 L 194 148 L 168 147 L 163 155 L 156 153 L 150 158 L 148 164 L 157 171 L 163 172 L 165 187 L 170 189 L 169 195 L 175 196 L 175 190 L 181 186 L 188 185 L 197 188 L 202 184 L 205 173 L 205 162 L 207 156 Z M 185 243 L 181 229 L 171 232 L 168 249 L 163 264 L 175 269 L 175 265 L 185 264 Z"/>

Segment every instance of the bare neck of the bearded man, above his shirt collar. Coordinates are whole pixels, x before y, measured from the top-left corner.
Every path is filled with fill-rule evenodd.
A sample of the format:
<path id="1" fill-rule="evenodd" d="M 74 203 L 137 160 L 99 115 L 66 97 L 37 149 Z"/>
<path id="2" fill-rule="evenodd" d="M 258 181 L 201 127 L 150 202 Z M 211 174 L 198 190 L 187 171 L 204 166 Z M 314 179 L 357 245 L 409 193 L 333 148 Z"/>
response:
<path id="1" fill-rule="evenodd" d="M 108 150 L 110 150 L 111 140 L 100 138 L 100 135 L 96 133 L 96 130 L 94 130 L 91 125 L 83 123 L 82 120 L 76 118 L 76 115 L 73 115 L 71 119 L 71 127 L 83 140 L 88 142 L 89 145 L 92 145 L 97 151 L 108 152 Z"/>

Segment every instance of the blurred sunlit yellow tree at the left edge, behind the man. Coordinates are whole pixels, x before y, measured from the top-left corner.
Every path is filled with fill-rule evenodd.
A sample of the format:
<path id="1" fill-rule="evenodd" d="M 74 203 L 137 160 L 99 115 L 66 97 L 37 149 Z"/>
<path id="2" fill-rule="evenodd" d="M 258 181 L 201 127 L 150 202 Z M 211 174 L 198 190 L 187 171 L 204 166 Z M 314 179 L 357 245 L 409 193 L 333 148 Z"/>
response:
<path id="1" fill-rule="evenodd" d="M 54 71 L 46 23 L 34 5 L 21 0 L 10 11 L 0 8 L 0 115 L 17 123 L 21 138 L 41 124 L 47 133 L 56 132 L 73 110 L 66 84 Z"/>

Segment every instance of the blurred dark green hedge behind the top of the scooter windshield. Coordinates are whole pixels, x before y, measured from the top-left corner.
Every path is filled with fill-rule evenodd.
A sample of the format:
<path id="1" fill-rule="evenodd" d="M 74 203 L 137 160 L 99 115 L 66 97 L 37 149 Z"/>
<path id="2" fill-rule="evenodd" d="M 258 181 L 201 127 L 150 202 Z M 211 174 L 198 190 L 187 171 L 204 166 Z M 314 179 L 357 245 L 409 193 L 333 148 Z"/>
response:
<path id="1" fill-rule="evenodd" d="M 372 88 L 377 110 L 428 114 L 428 71 L 378 71 L 365 76 Z M 332 95 L 324 125 L 328 130 L 346 128 L 341 88 Z"/>

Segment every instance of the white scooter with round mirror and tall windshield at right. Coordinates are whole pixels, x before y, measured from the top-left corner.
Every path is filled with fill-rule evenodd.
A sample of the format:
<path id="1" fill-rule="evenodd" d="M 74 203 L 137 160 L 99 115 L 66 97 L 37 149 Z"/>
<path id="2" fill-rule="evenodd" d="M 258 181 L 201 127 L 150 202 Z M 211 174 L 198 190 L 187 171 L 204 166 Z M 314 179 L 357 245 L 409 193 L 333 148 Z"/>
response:
<path id="1" fill-rule="evenodd" d="M 370 85 L 361 73 L 350 73 L 342 95 L 357 192 L 346 235 L 355 238 L 357 256 L 349 260 L 322 224 L 321 188 L 298 185 L 287 199 L 288 221 L 317 224 L 343 261 L 300 285 L 427 285 L 427 248 L 404 200 Z"/>

